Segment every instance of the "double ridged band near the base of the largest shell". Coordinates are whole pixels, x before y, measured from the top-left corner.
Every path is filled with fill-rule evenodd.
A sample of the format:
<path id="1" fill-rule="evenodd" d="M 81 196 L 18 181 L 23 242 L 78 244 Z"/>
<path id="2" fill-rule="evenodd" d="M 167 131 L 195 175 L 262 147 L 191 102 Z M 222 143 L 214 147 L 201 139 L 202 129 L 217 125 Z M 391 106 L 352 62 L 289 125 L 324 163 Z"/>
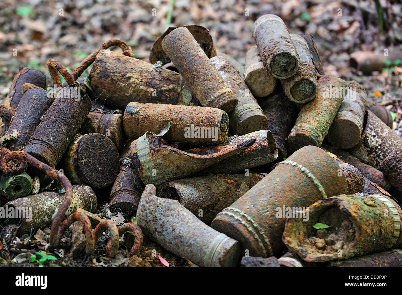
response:
<path id="1" fill-rule="evenodd" d="M 238 215 L 236 215 L 232 212 L 228 212 L 228 211 L 233 211 L 233 212 L 237 213 Z M 273 255 L 273 251 L 272 251 L 272 247 L 271 247 L 271 243 L 269 242 L 269 239 L 267 238 L 267 236 L 265 236 L 263 229 L 260 228 L 260 226 L 258 226 L 258 224 L 250 216 L 248 216 L 243 211 L 241 211 L 237 208 L 233 208 L 233 207 L 225 208 L 219 214 L 228 215 L 228 216 L 231 216 L 234 219 L 240 221 L 240 223 L 243 224 L 246 227 L 246 229 L 252 234 L 252 236 L 254 236 L 254 238 L 257 240 L 258 244 L 263 249 L 265 256 L 268 257 L 268 256 Z M 244 220 L 242 217 L 244 217 L 246 220 Z M 249 223 L 251 223 L 251 225 Z M 260 239 L 260 237 L 258 236 L 258 234 L 256 233 L 256 231 L 254 229 L 256 231 L 258 231 L 258 234 L 260 234 L 260 236 L 263 237 L 264 241 L 262 241 Z M 265 248 L 268 248 L 268 253 Z"/>

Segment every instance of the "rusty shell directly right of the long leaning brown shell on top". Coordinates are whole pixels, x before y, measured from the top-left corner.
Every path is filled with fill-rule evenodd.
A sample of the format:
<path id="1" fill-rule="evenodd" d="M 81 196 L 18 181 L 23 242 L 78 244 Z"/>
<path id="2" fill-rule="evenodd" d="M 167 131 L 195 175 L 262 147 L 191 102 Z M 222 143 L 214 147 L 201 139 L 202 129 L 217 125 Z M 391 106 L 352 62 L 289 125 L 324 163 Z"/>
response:
<path id="1" fill-rule="evenodd" d="M 263 110 L 233 63 L 222 56 L 212 57 L 210 61 L 238 99 L 236 108 L 229 114 L 229 126 L 234 134 L 243 135 L 267 129 L 268 120 Z"/>

